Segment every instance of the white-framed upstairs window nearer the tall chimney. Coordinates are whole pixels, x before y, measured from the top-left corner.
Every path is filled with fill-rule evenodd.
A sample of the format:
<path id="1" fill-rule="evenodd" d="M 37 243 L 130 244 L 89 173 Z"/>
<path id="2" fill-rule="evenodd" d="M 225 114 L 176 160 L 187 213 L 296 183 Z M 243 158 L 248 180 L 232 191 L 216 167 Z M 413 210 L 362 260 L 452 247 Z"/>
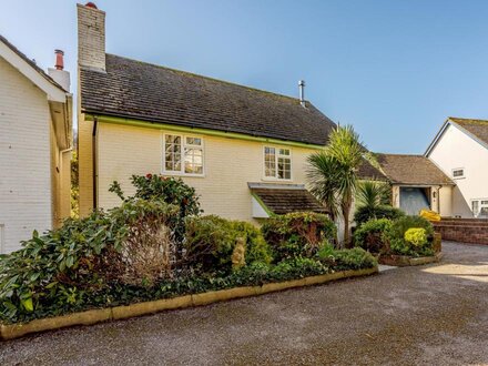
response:
<path id="1" fill-rule="evenodd" d="M 163 172 L 203 175 L 203 140 L 195 136 L 164 134 Z"/>

